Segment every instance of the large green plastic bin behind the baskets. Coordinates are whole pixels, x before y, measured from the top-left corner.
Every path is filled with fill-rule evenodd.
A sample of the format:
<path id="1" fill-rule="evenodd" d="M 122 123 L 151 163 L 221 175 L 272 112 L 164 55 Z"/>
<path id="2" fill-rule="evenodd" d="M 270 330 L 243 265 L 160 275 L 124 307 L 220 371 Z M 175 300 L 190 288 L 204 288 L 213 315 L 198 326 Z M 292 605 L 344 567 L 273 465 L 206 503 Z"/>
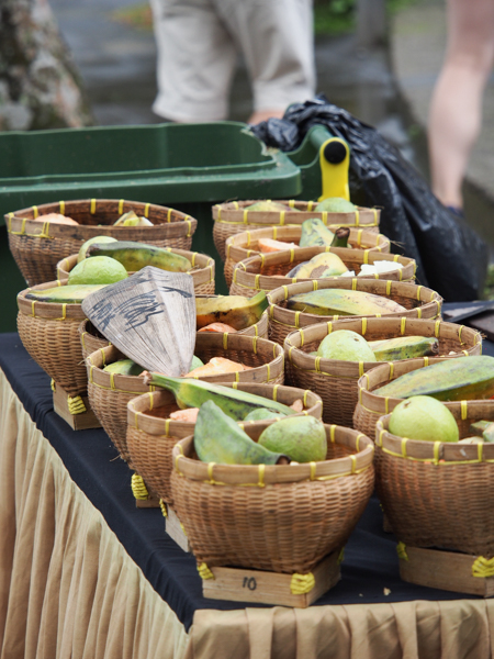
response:
<path id="1" fill-rule="evenodd" d="M 295 152 L 268 148 L 238 122 L 102 126 L 0 135 L 0 332 L 15 330 L 25 282 L 10 255 L 5 213 L 59 200 L 130 199 L 169 205 L 199 221 L 193 249 L 216 260 L 211 206 L 236 199 L 314 199 L 318 152 L 329 137 L 315 126 Z"/>

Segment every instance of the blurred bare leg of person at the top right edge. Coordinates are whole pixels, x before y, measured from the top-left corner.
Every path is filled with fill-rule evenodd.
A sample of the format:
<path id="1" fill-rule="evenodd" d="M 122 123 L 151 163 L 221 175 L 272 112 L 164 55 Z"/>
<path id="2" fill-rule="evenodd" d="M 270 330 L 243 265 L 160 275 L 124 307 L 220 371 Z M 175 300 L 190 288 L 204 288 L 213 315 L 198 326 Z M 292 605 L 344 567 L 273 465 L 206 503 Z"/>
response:
<path id="1" fill-rule="evenodd" d="M 446 205 L 463 205 L 461 185 L 493 59 L 494 0 L 448 0 L 448 47 L 428 129 L 433 191 Z"/>

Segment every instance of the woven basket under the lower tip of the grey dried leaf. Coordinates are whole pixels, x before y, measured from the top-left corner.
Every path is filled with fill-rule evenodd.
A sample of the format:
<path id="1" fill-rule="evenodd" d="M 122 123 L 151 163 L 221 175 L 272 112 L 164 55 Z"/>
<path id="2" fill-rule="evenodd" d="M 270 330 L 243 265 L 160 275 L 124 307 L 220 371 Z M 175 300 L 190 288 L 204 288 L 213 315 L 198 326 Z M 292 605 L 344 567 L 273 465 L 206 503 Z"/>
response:
<path id="1" fill-rule="evenodd" d="M 209 382 L 270 382 L 283 384 L 283 350 L 266 338 L 238 334 L 209 334 L 198 332 L 194 354 L 204 362 L 212 357 L 226 357 L 252 368 L 223 376 L 201 378 Z M 133 398 L 153 391 L 137 376 L 121 376 L 103 371 L 104 366 L 122 359 L 124 355 L 114 346 L 108 346 L 89 355 L 88 395 L 97 415 L 122 458 L 130 461 L 126 445 L 127 403 Z"/>

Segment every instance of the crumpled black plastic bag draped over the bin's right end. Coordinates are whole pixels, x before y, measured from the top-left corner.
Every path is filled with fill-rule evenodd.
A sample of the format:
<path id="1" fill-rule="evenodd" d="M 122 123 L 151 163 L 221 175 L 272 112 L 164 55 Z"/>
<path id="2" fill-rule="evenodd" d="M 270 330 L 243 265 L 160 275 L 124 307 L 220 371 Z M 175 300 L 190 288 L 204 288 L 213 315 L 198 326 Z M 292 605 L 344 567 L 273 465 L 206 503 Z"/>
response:
<path id="1" fill-rule="evenodd" d="M 440 203 L 375 129 L 318 97 L 290 105 L 283 119 L 270 119 L 252 126 L 252 132 L 268 146 L 293 150 L 316 124 L 348 143 L 352 199 L 382 208 L 381 231 L 394 253 L 416 260 L 418 282 L 449 302 L 476 300 L 489 263 L 485 243 Z"/>

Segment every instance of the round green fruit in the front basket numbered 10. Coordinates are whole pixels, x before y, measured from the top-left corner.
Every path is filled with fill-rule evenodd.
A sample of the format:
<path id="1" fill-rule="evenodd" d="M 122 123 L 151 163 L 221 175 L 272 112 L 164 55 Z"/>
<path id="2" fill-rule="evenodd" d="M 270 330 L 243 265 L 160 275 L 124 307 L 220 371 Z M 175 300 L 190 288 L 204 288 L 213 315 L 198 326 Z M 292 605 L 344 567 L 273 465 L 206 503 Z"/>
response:
<path id="1" fill-rule="evenodd" d="M 282 418 L 262 431 L 258 444 L 296 462 L 325 460 L 327 454 L 324 423 L 314 416 Z"/>

